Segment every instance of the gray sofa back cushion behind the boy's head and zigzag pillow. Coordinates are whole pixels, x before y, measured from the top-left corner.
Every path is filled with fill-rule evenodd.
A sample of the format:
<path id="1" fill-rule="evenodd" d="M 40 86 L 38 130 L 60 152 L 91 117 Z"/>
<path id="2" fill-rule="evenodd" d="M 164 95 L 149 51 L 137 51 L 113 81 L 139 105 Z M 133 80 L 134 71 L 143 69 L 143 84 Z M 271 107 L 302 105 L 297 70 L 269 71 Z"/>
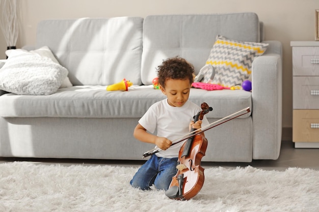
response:
<path id="1" fill-rule="evenodd" d="M 187 59 L 198 74 L 217 35 L 237 41 L 260 42 L 258 16 L 255 13 L 147 16 L 144 20 L 142 82 L 151 84 L 156 77 L 156 67 L 173 56 Z"/>

